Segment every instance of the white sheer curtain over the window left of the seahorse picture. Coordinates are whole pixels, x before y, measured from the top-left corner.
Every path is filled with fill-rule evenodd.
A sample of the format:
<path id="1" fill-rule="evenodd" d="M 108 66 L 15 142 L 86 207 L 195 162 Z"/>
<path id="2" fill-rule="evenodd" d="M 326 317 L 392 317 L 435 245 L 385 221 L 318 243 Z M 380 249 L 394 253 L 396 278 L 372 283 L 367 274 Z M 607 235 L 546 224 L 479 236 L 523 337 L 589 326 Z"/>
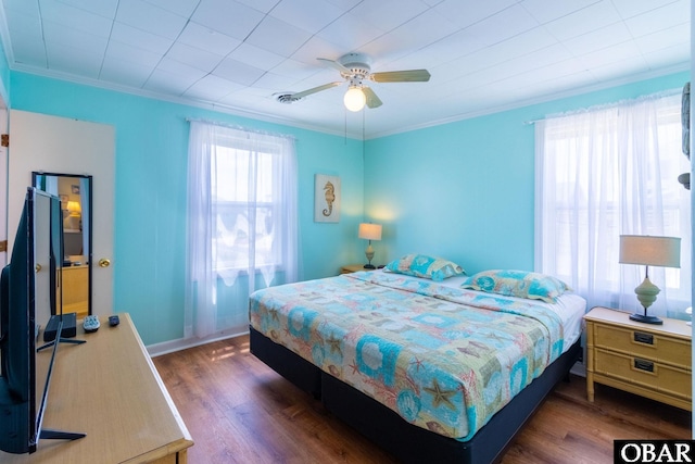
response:
<path id="1" fill-rule="evenodd" d="M 218 318 L 223 283 L 250 294 L 296 280 L 296 184 L 292 138 L 191 121 L 187 338 L 229 328 Z M 248 305 L 238 305 L 224 312 L 248 325 Z"/>

